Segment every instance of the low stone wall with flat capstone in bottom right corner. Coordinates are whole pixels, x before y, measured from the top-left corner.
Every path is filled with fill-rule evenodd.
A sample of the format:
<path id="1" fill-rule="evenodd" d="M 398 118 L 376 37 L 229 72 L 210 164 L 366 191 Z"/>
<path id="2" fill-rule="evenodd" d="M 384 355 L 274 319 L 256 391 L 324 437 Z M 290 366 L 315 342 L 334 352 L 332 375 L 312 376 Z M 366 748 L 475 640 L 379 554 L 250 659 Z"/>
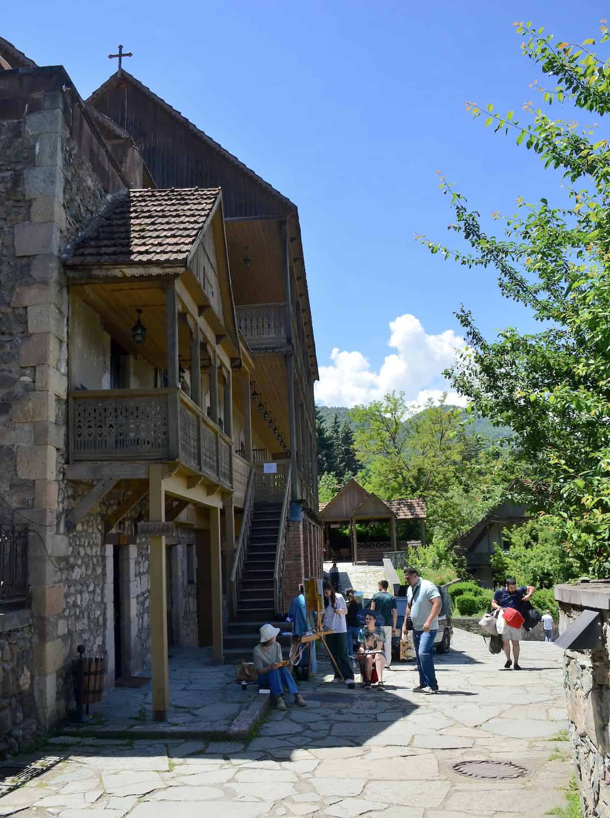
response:
<path id="1" fill-rule="evenodd" d="M 558 586 L 555 598 L 561 634 L 585 608 L 600 614 L 601 625 L 594 625 L 599 648 L 565 651 L 564 684 L 585 818 L 610 818 L 610 583 Z"/>

